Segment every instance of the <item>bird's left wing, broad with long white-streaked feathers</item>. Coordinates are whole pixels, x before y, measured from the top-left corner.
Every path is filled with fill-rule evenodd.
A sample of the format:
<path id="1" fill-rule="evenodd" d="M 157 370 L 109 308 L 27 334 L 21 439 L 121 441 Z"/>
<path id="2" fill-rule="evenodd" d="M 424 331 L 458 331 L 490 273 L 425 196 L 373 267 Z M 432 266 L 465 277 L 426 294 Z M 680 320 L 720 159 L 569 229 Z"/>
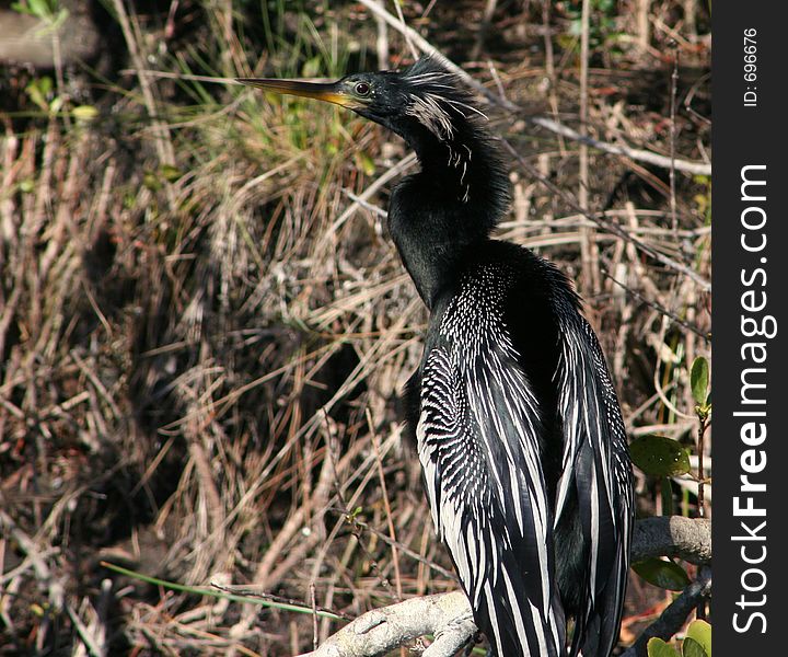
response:
<path id="1" fill-rule="evenodd" d="M 536 403 L 513 349 L 447 341 L 428 354 L 416 427 L 438 534 L 499 657 L 565 655 Z"/>

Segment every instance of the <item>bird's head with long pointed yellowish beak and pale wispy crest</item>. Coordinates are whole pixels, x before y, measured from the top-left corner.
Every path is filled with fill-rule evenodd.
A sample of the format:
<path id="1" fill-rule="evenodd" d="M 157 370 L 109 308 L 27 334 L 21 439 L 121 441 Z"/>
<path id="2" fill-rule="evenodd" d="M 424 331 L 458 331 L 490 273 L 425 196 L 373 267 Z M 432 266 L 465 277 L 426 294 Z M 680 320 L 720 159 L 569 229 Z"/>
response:
<path id="1" fill-rule="evenodd" d="M 472 104 L 456 76 L 436 59 L 424 57 L 402 71 L 352 73 L 336 82 L 239 78 L 266 91 L 305 96 L 348 107 L 404 137 L 418 141 L 432 135 L 451 142 L 459 131 L 484 116 Z M 426 131 L 426 132 L 425 132 Z"/>

